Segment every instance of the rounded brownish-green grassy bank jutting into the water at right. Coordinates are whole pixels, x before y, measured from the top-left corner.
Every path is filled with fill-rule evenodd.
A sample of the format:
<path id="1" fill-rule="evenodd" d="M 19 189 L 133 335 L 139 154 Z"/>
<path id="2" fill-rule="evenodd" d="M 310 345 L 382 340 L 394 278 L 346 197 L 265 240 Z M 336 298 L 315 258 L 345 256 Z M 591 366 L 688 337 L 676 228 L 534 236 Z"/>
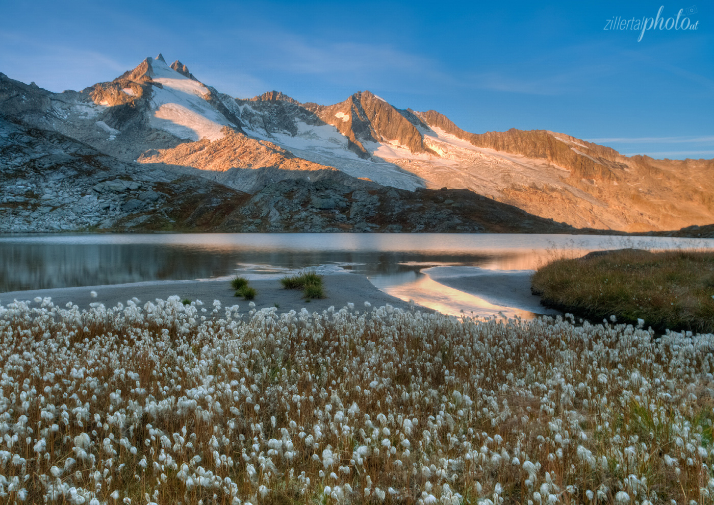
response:
<path id="1" fill-rule="evenodd" d="M 655 329 L 714 332 L 714 254 L 623 249 L 600 256 L 560 259 L 536 271 L 543 304 Z"/>

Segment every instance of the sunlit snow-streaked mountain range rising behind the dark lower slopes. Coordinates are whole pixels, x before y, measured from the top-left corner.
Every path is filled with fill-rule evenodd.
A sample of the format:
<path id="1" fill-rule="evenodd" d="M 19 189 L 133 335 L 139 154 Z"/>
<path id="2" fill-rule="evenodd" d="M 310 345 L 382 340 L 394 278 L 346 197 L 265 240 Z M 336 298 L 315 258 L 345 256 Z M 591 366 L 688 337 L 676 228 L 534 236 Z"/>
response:
<path id="1" fill-rule="evenodd" d="M 327 191 L 318 186 L 350 206 L 344 195 L 386 194 L 384 186 L 406 191 L 400 201 L 414 205 L 429 191 L 437 201 L 448 187 L 470 190 L 463 195 L 474 202 L 503 204 L 513 219 L 513 208 L 522 209 L 543 226 L 641 232 L 714 222 L 714 160 L 628 157 L 545 130 L 472 134 L 437 111 L 397 109 L 370 91 L 327 106 L 278 91 L 237 99 L 161 54 L 79 92 L 51 93 L 0 74 L 0 113 L 91 146 L 131 171 L 208 179 L 253 196 L 300 187 L 313 211 L 343 209 L 313 206 L 313 196 Z M 483 229 L 478 219 L 472 224 Z"/>

